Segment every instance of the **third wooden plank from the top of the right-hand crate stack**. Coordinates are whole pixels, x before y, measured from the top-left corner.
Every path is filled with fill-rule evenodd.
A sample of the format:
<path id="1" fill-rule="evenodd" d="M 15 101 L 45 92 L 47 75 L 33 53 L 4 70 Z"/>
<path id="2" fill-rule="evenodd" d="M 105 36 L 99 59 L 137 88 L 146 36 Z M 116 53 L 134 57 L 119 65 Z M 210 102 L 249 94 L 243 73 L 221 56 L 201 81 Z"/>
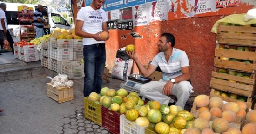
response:
<path id="1" fill-rule="evenodd" d="M 238 45 L 238 46 L 256 47 L 256 42 L 253 40 L 217 38 L 217 41 L 220 44 L 231 44 L 231 45 Z"/>

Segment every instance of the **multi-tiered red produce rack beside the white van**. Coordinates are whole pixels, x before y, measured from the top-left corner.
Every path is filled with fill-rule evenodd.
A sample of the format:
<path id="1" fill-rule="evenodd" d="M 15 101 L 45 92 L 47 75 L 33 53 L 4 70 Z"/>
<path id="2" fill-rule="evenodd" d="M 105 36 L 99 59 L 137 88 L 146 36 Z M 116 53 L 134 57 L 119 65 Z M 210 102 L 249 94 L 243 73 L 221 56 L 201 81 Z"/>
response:
<path id="1" fill-rule="evenodd" d="M 25 5 L 18 6 L 18 21 L 20 25 L 20 39 L 30 41 L 35 37 L 34 25 L 34 10 L 32 7 Z"/>

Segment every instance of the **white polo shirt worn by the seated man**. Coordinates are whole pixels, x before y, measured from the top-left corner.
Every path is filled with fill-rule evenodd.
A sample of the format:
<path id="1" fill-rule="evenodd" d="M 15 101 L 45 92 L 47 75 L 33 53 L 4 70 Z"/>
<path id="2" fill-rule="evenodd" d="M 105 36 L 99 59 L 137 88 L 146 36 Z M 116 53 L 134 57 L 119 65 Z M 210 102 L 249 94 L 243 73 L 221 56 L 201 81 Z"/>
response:
<path id="1" fill-rule="evenodd" d="M 150 64 L 160 67 L 163 80 L 169 81 L 182 75 L 182 67 L 189 66 L 189 58 L 185 51 L 173 48 L 168 61 L 165 60 L 164 52 L 160 52 L 155 55 Z"/>

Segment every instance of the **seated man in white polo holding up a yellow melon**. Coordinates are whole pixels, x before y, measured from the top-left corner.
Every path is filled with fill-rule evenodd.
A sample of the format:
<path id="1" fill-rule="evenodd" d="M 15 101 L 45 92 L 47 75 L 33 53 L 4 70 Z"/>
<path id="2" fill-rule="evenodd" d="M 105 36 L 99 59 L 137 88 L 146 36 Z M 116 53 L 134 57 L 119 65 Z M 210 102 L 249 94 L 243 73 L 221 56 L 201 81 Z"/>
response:
<path id="1" fill-rule="evenodd" d="M 141 86 L 140 93 L 142 96 L 161 104 L 169 104 L 171 100 L 169 95 L 172 94 L 177 97 L 175 105 L 184 109 L 190 93 L 193 92 L 193 87 L 188 81 L 190 78 L 189 59 L 186 52 L 175 49 L 174 45 L 174 36 L 170 33 L 163 33 L 158 42 L 160 52 L 155 55 L 148 68 L 141 64 L 135 51 L 127 53 L 144 76 L 150 76 L 157 67 L 160 67 L 163 73 L 163 79 L 151 81 Z"/>

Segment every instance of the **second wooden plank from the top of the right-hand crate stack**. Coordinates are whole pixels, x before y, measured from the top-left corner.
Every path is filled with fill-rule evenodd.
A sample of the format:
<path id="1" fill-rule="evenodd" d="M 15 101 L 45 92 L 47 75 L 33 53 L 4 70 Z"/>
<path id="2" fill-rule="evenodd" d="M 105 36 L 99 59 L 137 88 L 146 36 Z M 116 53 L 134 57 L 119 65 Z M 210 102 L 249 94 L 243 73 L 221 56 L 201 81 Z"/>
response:
<path id="1" fill-rule="evenodd" d="M 254 40 L 256 41 L 256 34 L 252 33 L 230 33 L 230 32 L 218 32 L 217 38 L 226 38 L 226 39 L 242 39 L 242 40 Z"/>

